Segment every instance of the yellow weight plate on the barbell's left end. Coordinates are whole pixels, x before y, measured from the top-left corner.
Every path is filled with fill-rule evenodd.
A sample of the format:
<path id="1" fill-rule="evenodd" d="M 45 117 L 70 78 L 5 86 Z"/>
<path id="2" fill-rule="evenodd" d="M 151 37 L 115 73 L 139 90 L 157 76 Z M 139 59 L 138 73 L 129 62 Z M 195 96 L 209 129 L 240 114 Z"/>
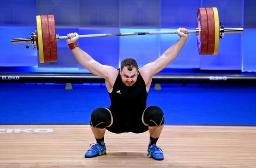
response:
<path id="1" fill-rule="evenodd" d="M 44 63 L 44 47 L 43 47 L 43 35 L 42 35 L 42 23 L 41 16 L 36 16 L 36 25 L 37 25 L 37 40 L 38 40 L 38 51 L 39 51 L 39 60 L 40 63 Z"/>

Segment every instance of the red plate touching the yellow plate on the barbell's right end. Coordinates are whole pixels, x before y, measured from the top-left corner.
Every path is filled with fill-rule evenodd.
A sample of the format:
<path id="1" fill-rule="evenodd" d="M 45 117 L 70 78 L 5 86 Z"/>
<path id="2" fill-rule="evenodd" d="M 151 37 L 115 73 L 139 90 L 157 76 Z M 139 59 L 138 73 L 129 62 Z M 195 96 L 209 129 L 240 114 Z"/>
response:
<path id="1" fill-rule="evenodd" d="M 215 43 L 215 21 L 214 13 L 212 7 L 206 7 L 207 20 L 208 20 L 208 49 L 207 55 L 212 55 L 214 53 L 214 43 Z"/>

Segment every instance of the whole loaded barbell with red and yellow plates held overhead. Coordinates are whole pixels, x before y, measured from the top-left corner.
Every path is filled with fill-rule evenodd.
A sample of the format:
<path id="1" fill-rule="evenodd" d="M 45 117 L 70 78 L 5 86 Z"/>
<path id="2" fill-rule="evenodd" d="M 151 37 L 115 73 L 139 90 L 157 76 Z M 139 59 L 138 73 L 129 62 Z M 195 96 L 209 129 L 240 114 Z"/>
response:
<path id="1" fill-rule="evenodd" d="M 30 43 L 26 46 L 27 48 L 35 45 L 39 51 L 40 63 L 56 62 L 58 60 L 57 41 L 68 39 L 68 37 L 56 34 L 54 15 L 37 15 L 36 24 L 37 28 L 35 33 L 31 34 L 31 37 L 13 38 L 11 39 L 12 43 Z M 202 7 L 197 11 L 196 29 L 188 30 L 187 33 L 196 34 L 197 49 L 200 55 L 212 55 L 218 53 L 219 39 L 223 38 L 224 33 L 243 33 L 243 28 L 224 28 L 222 22 L 219 22 L 219 14 L 216 7 Z M 79 35 L 79 38 L 152 34 L 177 34 L 177 31 L 85 34 Z"/>

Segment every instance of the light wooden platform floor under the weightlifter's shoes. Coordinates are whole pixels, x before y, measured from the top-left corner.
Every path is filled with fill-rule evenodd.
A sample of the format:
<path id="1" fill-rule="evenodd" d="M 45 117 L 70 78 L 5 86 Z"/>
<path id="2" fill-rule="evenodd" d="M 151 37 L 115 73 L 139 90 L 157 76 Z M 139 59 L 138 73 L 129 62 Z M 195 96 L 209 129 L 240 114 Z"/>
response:
<path id="1" fill-rule="evenodd" d="M 147 157 L 148 141 L 107 131 L 107 155 L 84 158 L 88 125 L 2 125 L 0 168 L 256 168 L 256 127 L 165 126 L 163 161 Z"/>

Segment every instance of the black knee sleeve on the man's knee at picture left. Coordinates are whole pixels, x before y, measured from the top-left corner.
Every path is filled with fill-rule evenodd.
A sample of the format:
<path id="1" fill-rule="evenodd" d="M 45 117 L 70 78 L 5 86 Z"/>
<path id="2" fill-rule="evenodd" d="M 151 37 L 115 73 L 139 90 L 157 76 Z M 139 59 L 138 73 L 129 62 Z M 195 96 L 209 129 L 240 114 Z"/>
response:
<path id="1" fill-rule="evenodd" d="M 96 108 L 91 114 L 90 125 L 95 128 L 106 128 L 111 124 L 111 114 L 106 108 Z"/>

